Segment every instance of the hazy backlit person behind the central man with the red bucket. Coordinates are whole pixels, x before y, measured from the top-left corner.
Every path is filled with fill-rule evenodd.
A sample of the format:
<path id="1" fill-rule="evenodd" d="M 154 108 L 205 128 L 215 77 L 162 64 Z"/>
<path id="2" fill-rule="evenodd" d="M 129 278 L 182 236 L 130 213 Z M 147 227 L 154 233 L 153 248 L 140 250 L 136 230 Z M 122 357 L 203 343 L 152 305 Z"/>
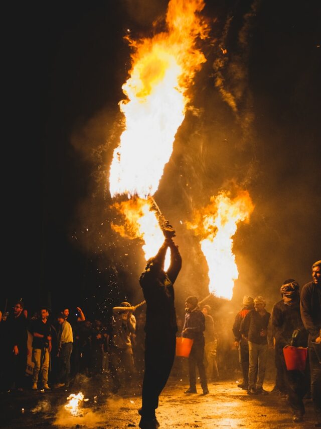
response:
<path id="1" fill-rule="evenodd" d="M 213 381 L 219 378 L 219 370 L 217 368 L 217 338 L 213 317 L 209 314 L 211 307 L 204 305 L 202 313 L 205 316 L 205 348 L 204 348 L 204 365 L 206 369 L 207 379 Z"/>

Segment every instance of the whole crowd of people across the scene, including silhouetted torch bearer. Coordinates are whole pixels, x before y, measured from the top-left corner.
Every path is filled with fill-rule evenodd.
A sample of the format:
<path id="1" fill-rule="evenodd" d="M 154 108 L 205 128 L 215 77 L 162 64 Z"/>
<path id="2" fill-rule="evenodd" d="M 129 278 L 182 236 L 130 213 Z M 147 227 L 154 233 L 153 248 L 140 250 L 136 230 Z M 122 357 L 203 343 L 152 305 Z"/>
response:
<path id="1" fill-rule="evenodd" d="M 154 258 L 147 261 L 139 282 L 146 300 L 146 311 L 135 315 L 127 301 L 114 307 L 111 320 L 87 320 L 80 307 L 69 314 L 64 308 L 52 317 L 47 307 L 29 317 L 22 300 L 15 303 L 12 314 L 0 311 L 2 362 L 0 387 L 3 392 L 68 388 L 78 373 L 89 377 L 105 374 L 111 390 L 121 386 L 142 387 L 142 407 L 138 410 L 141 429 L 159 426 L 155 410 L 158 397 L 172 371 L 176 338 L 192 340 L 188 357 L 189 388 L 197 393 L 198 369 L 204 395 L 209 381 L 219 379 L 217 350 L 220 344 L 211 307 L 200 307 L 196 296 L 185 301 L 185 320 L 178 329 L 174 283 L 182 259 L 168 228 L 165 241 Z M 171 265 L 164 271 L 167 248 L 171 248 Z M 243 374 L 238 387 L 249 395 L 268 395 L 263 388 L 268 348 L 274 349 L 276 380 L 272 393 L 287 399 L 293 422 L 302 421 L 303 398 L 310 395 L 316 422 L 321 427 L 321 261 L 312 266 L 312 281 L 300 288 L 294 279 L 280 287 L 281 299 L 271 313 L 263 296 L 244 296 L 242 308 L 233 326 L 234 345 L 239 352 Z M 29 340 L 28 340 L 29 336 Z M 232 333 L 231 333 L 232 338 Z M 31 342 L 32 341 L 32 342 Z M 288 347 L 308 351 L 306 365 L 287 368 L 284 350 Z M 27 361 L 31 358 L 28 385 Z M 30 367 L 30 366 L 29 366 Z M 27 371 L 28 373 L 28 371 Z"/>

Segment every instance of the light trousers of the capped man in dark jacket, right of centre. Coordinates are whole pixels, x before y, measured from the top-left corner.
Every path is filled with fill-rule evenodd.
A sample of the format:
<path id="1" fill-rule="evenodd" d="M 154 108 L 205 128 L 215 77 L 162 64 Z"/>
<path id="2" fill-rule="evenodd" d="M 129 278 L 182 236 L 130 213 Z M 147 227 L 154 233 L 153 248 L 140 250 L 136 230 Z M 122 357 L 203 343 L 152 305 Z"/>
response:
<path id="1" fill-rule="evenodd" d="M 267 344 L 255 344 L 249 341 L 249 361 L 249 389 L 260 390 L 265 377 Z"/>

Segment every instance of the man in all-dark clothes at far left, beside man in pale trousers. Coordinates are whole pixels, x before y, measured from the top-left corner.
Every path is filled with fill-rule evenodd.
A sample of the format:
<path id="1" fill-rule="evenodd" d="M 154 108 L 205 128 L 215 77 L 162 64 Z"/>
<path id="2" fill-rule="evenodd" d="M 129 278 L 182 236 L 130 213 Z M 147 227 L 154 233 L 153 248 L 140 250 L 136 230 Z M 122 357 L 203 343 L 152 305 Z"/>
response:
<path id="1" fill-rule="evenodd" d="M 9 345 L 11 353 L 11 384 L 18 391 L 23 391 L 27 366 L 27 319 L 24 314 L 24 303 L 19 301 L 14 306 L 14 316 L 8 318 Z"/>

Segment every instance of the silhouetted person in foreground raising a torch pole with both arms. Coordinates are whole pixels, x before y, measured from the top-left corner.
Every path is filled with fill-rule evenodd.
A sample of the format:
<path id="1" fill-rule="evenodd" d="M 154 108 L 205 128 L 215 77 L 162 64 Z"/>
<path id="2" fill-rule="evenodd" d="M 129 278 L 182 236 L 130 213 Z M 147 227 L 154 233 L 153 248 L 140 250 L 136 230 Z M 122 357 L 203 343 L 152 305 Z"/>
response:
<path id="1" fill-rule="evenodd" d="M 142 407 L 139 427 L 159 426 L 155 417 L 158 396 L 169 378 L 176 349 L 176 311 L 173 284 L 182 267 L 182 258 L 175 245 L 175 231 L 170 225 L 164 230 L 165 241 L 154 258 L 147 261 L 139 277 L 146 300 L 145 373 L 142 385 Z M 171 249 L 171 265 L 164 271 L 167 248 Z"/>

